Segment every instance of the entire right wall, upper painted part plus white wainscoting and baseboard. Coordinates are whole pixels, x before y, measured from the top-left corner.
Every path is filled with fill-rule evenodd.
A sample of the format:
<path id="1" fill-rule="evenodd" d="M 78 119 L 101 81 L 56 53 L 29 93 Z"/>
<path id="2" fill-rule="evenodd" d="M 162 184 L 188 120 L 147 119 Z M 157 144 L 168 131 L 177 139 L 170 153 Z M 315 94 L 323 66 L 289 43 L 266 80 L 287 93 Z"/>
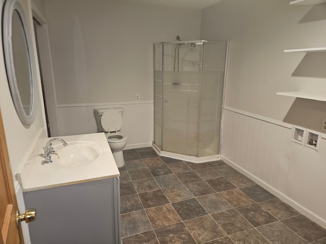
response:
<path id="1" fill-rule="evenodd" d="M 230 40 L 222 158 L 323 227 L 325 139 L 318 152 L 291 142 L 291 125 L 320 132 L 326 102 L 276 93 L 326 93 L 326 52 L 283 52 L 325 47 L 325 26 L 326 4 L 223 0 L 201 27 L 201 39 Z"/>

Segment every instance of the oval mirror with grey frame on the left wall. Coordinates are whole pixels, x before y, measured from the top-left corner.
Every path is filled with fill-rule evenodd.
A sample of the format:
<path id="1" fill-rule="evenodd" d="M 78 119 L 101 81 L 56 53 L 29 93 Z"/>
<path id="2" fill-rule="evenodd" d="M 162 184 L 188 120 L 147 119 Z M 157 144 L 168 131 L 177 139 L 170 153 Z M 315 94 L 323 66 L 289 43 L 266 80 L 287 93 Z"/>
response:
<path id="1" fill-rule="evenodd" d="M 25 126 L 36 117 L 35 59 L 31 29 L 19 0 L 7 0 L 3 12 L 3 46 L 11 97 Z"/>

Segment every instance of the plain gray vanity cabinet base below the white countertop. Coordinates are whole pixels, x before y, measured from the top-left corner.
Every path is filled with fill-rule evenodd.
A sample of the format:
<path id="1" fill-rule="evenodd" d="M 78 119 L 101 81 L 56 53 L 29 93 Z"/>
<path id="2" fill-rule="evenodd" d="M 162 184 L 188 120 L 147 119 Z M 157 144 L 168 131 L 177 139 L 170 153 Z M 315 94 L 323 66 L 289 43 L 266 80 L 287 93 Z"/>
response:
<path id="1" fill-rule="evenodd" d="M 32 244 L 119 244 L 119 177 L 24 192 Z"/>

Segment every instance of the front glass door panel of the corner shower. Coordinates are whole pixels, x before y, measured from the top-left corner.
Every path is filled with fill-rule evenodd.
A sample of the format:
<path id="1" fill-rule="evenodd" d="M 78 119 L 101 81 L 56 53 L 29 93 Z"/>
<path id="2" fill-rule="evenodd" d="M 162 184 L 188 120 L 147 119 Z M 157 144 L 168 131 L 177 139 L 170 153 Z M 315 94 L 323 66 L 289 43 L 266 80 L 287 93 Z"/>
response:
<path id="1" fill-rule="evenodd" d="M 162 150 L 197 156 L 203 46 L 164 44 Z"/>

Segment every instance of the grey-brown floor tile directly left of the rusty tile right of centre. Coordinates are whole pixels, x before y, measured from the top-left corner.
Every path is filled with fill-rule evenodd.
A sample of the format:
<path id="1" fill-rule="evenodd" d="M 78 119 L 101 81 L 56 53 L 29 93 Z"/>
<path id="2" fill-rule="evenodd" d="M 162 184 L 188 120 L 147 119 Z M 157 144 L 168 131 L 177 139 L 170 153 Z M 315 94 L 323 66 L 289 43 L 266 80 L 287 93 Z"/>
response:
<path id="1" fill-rule="evenodd" d="M 232 206 L 218 193 L 197 197 L 196 199 L 200 204 L 202 204 L 208 214 L 232 208 Z"/>

